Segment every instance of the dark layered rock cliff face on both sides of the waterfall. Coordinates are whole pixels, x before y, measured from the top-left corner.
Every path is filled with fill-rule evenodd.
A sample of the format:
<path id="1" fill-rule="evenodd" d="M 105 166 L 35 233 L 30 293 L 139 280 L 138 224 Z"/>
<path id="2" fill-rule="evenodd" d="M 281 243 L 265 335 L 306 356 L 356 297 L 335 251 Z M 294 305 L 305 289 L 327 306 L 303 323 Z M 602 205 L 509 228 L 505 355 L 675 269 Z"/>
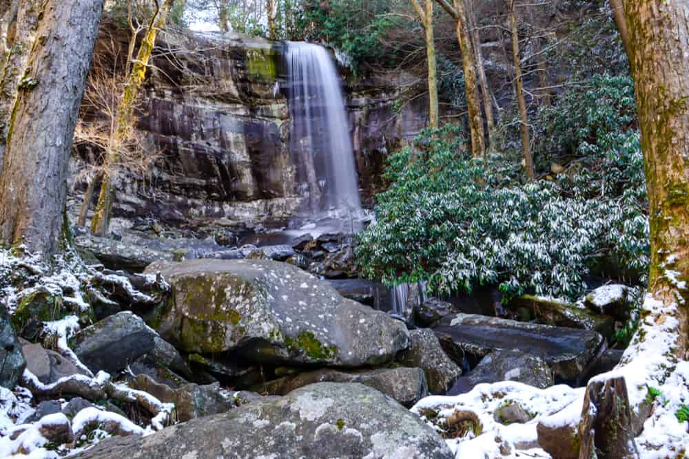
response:
<path id="1" fill-rule="evenodd" d="M 113 34 L 107 36 L 110 40 Z M 306 171 L 290 149 L 295 139 L 285 43 L 200 33 L 168 34 L 162 41 L 163 56 L 156 58 L 147 80 L 139 129 L 163 159 L 147 180 L 122 175 L 115 216 L 154 216 L 191 226 L 251 225 L 305 209 L 300 184 Z M 424 125 L 424 98 L 400 103 L 402 94 L 395 88 L 404 80 L 399 74 L 376 81 L 344 78 L 364 202 L 382 186 L 387 153 Z"/>

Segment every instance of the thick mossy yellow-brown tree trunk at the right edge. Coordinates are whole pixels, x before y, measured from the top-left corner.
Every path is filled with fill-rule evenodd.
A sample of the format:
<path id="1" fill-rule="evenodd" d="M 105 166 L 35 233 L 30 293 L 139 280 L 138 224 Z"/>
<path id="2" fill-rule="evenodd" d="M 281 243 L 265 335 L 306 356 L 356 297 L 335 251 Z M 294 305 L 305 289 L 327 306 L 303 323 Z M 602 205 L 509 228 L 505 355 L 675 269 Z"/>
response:
<path id="1" fill-rule="evenodd" d="M 630 65 L 641 127 L 648 214 L 648 293 L 676 310 L 672 352 L 689 350 L 689 17 L 686 1 L 625 1 Z M 675 307 L 676 305 L 676 307 Z M 643 313 L 642 313 L 643 314 Z M 642 315 L 643 317 L 643 315 Z M 666 321 L 657 317 L 658 323 Z"/>

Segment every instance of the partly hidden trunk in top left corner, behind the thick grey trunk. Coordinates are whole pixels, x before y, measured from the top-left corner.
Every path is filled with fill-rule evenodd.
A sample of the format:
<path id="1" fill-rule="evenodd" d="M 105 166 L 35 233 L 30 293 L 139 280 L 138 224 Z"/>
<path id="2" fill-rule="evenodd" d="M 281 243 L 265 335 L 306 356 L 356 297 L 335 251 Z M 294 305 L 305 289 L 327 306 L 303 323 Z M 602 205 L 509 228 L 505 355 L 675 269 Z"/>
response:
<path id="1" fill-rule="evenodd" d="M 29 52 L 34 42 L 41 0 L 15 1 L 8 14 L 7 45 L 10 54 L 0 80 L 0 172 L 7 148 L 12 107 L 17 101 L 19 82 L 24 75 Z"/>

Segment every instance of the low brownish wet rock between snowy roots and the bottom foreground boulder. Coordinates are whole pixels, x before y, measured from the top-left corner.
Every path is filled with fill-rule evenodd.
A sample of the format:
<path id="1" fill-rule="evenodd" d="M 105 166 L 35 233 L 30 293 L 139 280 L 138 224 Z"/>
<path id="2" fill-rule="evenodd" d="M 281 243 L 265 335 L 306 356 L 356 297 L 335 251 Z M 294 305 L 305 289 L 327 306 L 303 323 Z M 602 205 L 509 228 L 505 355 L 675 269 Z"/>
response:
<path id="1" fill-rule="evenodd" d="M 130 382 L 130 387 L 148 392 L 163 403 L 174 403 L 177 419 L 182 423 L 189 419 L 224 413 L 236 407 L 234 398 L 220 389 L 220 383 L 189 383 L 173 389 L 157 383 L 150 376 L 140 374 Z"/>

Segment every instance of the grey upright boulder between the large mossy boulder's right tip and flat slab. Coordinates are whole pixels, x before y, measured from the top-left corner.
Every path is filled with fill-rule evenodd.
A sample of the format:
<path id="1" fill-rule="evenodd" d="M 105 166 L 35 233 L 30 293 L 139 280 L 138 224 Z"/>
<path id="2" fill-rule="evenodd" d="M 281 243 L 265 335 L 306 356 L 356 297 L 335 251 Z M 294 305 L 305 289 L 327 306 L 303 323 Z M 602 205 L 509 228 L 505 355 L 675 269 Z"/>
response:
<path id="1" fill-rule="evenodd" d="M 409 342 L 409 348 L 400 352 L 395 360 L 408 367 L 421 368 L 431 393 L 446 394 L 462 375 L 462 369 L 442 350 L 433 330 L 412 330 Z"/>

